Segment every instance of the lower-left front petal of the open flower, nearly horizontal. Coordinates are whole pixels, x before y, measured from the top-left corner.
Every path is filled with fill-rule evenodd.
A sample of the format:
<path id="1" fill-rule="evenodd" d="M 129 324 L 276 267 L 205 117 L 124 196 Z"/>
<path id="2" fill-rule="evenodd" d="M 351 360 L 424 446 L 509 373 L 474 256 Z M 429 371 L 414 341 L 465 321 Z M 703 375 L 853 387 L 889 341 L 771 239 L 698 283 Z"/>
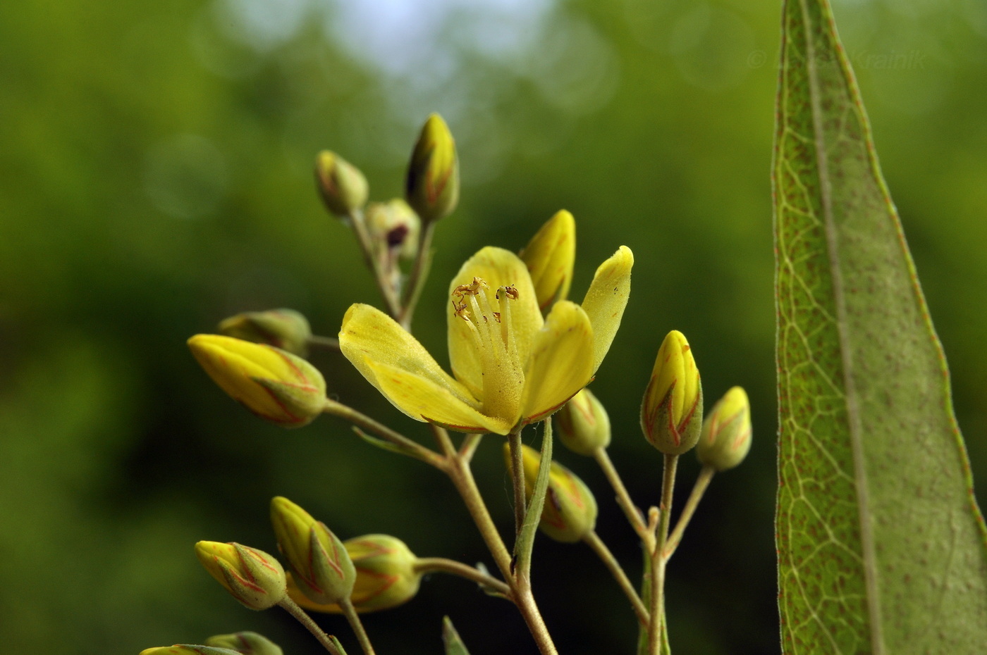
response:
<path id="1" fill-rule="evenodd" d="M 482 414 L 432 380 L 374 361 L 367 362 L 367 366 L 373 373 L 377 389 L 412 418 L 459 432 L 510 432 L 513 422 Z"/>

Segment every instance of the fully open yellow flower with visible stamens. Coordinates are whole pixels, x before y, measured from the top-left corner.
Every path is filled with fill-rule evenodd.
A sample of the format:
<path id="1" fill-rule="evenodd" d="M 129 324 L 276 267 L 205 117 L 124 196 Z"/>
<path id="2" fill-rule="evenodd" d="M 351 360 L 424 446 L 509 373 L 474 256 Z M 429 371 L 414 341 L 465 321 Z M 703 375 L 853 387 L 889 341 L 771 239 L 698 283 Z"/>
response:
<path id="1" fill-rule="evenodd" d="M 452 375 L 369 305 L 351 306 L 342 319 L 342 354 L 412 418 L 507 434 L 542 420 L 592 380 L 620 327 L 633 264 L 622 246 L 596 269 L 581 306 L 560 301 L 542 319 L 524 262 L 488 247 L 449 286 Z"/>

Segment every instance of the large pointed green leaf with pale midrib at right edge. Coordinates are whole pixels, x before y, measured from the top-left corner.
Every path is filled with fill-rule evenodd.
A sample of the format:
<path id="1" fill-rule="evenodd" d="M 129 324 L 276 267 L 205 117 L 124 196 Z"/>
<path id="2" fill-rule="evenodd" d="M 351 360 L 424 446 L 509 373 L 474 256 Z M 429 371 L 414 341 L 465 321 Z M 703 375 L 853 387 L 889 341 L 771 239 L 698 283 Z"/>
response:
<path id="1" fill-rule="evenodd" d="M 976 653 L 987 531 L 949 376 L 825 0 L 784 7 L 777 543 L 789 653 Z"/>

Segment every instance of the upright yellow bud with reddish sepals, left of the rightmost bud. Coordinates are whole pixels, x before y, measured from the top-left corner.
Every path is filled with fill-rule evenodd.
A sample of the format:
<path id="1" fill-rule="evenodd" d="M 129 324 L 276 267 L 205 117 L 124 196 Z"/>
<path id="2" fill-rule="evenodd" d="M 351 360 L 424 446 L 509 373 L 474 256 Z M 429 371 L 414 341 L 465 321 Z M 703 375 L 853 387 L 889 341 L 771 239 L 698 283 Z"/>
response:
<path id="1" fill-rule="evenodd" d="M 652 446 L 681 455 L 696 445 L 703 424 L 703 386 L 689 342 L 673 329 L 654 360 L 641 405 L 641 427 Z"/>

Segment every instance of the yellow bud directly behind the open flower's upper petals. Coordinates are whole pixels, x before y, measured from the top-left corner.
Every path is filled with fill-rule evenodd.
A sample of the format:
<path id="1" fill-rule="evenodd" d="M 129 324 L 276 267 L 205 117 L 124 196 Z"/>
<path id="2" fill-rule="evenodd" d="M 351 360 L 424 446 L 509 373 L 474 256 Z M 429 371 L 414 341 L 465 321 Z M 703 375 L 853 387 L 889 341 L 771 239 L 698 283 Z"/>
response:
<path id="1" fill-rule="evenodd" d="M 535 285 L 538 306 L 544 312 L 557 300 L 565 300 L 575 263 L 575 219 L 565 209 L 556 213 L 521 251 Z"/>

